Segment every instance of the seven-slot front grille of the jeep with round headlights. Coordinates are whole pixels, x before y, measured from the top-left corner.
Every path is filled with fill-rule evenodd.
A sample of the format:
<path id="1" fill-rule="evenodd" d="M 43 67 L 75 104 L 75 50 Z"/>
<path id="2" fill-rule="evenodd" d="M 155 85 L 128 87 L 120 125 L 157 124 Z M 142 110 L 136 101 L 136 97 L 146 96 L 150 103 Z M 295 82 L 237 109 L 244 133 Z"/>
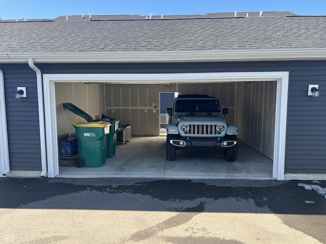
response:
<path id="1" fill-rule="evenodd" d="M 221 127 L 224 129 L 221 130 Z M 183 133 L 184 135 L 216 136 L 216 135 L 223 134 L 226 129 L 226 126 L 223 124 L 213 124 L 213 125 L 211 125 L 211 124 L 181 124 L 179 128 L 180 128 L 180 132 Z"/>

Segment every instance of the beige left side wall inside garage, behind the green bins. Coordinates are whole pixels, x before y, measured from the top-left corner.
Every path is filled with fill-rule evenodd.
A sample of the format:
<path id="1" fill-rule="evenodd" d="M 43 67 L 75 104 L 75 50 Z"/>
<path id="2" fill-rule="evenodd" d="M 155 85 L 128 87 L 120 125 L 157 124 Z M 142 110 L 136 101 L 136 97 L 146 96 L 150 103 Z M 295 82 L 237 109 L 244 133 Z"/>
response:
<path id="1" fill-rule="evenodd" d="M 104 84 L 98 83 L 56 83 L 56 107 L 58 138 L 67 133 L 75 133 L 71 125 L 76 122 L 87 122 L 63 107 L 63 103 L 72 103 L 95 119 L 104 114 Z"/>

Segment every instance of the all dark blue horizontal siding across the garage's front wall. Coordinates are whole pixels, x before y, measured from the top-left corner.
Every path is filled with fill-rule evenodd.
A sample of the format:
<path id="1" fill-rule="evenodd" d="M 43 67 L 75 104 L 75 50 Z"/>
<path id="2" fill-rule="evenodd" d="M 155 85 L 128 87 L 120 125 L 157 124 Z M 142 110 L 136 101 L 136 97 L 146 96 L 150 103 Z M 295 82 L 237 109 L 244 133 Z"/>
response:
<path id="1" fill-rule="evenodd" d="M 289 71 L 285 173 L 326 173 L 326 60 L 181 64 L 37 64 L 42 73 L 191 73 Z M 10 161 L 13 170 L 39 170 L 36 76 L 26 65 L 0 65 L 5 74 Z M 320 97 L 307 96 L 319 84 Z M 14 100 L 16 86 L 28 99 Z M 32 147 L 32 148 L 31 148 Z"/>

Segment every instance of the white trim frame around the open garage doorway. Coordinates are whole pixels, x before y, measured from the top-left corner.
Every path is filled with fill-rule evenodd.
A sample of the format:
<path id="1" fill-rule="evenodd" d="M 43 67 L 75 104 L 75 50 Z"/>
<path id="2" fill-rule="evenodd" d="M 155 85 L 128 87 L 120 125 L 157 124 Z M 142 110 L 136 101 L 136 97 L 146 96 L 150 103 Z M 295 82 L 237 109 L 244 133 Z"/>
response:
<path id="1" fill-rule="evenodd" d="M 57 141 L 56 82 L 131 83 L 212 83 L 277 81 L 273 177 L 284 179 L 289 72 L 235 72 L 182 74 L 44 74 L 44 116 L 48 177 L 59 175 Z M 41 135 L 42 136 L 42 135 Z"/>

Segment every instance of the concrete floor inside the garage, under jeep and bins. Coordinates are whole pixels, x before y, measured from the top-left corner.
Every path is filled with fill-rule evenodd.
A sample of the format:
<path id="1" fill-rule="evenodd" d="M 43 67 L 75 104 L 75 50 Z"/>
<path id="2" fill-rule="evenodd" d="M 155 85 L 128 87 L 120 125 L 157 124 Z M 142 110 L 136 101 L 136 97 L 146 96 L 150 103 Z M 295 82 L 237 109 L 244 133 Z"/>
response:
<path id="1" fill-rule="evenodd" d="M 184 153 L 166 160 L 166 136 L 131 137 L 117 144 L 116 155 L 99 168 L 60 166 L 58 177 L 133 177 L 182 179 L 273 179 L 273 160 L 238 140 L 238 157 L 226 162 L 223 154 Z"/>

